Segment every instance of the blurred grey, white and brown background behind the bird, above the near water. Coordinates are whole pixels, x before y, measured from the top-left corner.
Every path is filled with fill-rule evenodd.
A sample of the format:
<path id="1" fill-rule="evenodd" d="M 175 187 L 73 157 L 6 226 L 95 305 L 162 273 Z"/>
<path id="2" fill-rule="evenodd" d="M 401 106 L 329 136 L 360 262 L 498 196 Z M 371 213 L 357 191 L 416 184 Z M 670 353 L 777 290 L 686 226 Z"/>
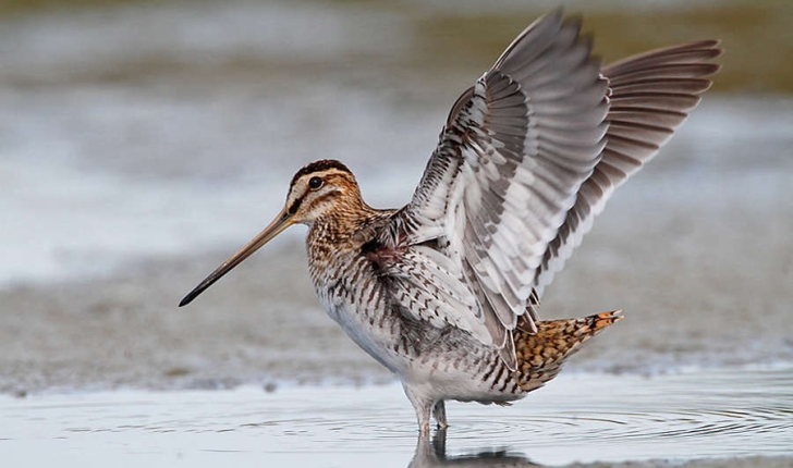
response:
<path id="1" fill-rule="evenodd" d="M 320 158 L 404 204 L 459 94 L 558 2 L 0 2 L 0 391 L 366 383 L 296 227 L 180 298 Z M 569 1 L 606 62 L 722 39 L 723 70 L 546 290 L 623 308 L 572 369 L 793 361 L 793 3 Z"/>

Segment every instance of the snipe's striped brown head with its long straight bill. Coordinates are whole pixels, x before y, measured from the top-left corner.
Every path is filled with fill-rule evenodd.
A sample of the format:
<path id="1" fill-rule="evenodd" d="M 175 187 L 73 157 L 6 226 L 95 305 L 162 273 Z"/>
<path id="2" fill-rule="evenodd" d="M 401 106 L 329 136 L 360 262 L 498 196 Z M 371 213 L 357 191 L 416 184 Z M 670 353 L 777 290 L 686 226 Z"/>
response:
<path id="1" fill-rule="evenodd" d="M 325 217 L 344 215 L 365 207 L 355 176 L 339 161 L 322 159 L 297 171 L 286 195 L 286 204 L 276 219 L 256 237 L 218 267 L 187 294 L 179 306 L 186 306 L 251 254 L 292 224 L 313 225 Z"/>

